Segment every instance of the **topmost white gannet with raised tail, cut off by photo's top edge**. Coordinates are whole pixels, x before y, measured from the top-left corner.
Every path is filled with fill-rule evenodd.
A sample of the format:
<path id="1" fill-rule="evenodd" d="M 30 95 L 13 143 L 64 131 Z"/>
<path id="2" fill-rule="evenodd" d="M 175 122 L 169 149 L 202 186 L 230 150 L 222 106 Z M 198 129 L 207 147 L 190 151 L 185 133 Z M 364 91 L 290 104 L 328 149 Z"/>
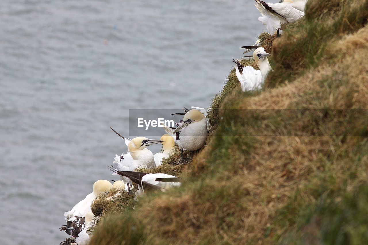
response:
<path id="1" fill-rule="evenodd" d="M 279 30 L 284 30 L 289 23 L 295 23 L 304 16 L 304 12 L 293 7 L 292 0 L 285 0 L 282 3 L 265 3 L 262 0 L 254 0 L 255 7 L 261 12 L 262 16 L 258 20 L 266 26 L 266 31 L 273 35 Z M 299 4 L 296 4 L 299 6 Z"/>

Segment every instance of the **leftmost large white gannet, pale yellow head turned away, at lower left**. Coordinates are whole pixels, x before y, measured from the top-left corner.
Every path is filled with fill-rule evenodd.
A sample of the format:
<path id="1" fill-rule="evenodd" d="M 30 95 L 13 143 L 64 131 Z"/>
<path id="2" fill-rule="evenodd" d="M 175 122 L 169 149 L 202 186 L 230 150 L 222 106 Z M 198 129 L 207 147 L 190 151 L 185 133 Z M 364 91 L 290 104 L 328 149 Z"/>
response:
<path id="1" fill-rule="evenodd" d="M 84 218 L 88 212 L 91 212 L 93 200 L 102 193 L 107 193 L 113 188 L 113 185 L 107 180 L 98 180 L 93 184 L 93 192 L 88 194 L 85 199 L 78 202 L 70 211 L 65 212 L 66 226 L 60 227 L 61 231 L 66 231 L 71 227 L 72 222 L 77 217 Z"/>

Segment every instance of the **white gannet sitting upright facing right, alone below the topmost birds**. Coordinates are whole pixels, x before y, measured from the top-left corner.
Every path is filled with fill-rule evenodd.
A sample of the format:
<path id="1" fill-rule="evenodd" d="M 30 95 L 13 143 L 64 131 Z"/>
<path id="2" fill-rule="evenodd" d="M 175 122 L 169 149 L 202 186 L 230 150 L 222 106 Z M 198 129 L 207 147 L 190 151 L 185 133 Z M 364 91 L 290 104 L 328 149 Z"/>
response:
<path id="1" fill-rule="evenodd" d="M 267 77 L 268 72 L 272 69 L 268 62 L 269 53 L 266 53 L 263 47 L 258 47 L 253 52 L 253 58 L 256 61 L 259 70 L 255 70 L 251 66 L 244 66 L 240 64 L 239 60 L 234 60 L 235 74 L 241 84 L 243 92 L 260 88 L 263 81 Z"/>

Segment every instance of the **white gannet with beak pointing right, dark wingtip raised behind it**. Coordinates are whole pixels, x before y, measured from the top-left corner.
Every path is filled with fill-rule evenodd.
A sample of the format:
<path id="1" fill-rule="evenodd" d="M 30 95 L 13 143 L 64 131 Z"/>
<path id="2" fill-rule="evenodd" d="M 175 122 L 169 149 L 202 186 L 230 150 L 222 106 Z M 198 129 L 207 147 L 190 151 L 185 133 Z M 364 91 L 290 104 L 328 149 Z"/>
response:
<path id="1" fill-rule="evenodd" d="M 118 132 L 112 129 L 117 135 L 124 139 L 125 144 L 127 138 L 121 136 Z M 146 149 L 147 146 L 162 143 L 163 141 L 158 139 L 148 139 L 146 137 L 136 137 L 128 141 L 128 153 L 122 154 L 120 157 L 114 157 L 115 161 L 113 163 L 117 164 L 117 168 L 120 171 L 134 171 L 136 168 L 155 168 L 155 158 L 153 153 Z M 124 183 L 128 180 L 123 179 Z"/>

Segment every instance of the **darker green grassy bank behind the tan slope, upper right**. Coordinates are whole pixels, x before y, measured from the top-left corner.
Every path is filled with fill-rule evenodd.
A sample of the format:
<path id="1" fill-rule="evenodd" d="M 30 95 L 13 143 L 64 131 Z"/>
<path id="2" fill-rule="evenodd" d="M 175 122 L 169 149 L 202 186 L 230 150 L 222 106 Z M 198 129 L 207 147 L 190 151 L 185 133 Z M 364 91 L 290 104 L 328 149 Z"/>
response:
<path id="1" fill-rule="evenodd" d="M 316 67 L 330 40 L 353 33 L 367 23 L 368 1 L 310 0 L 303 24 L 290 26 L 273 44 L 275 72 L 266 82 L 274 88 L 297 78 L 308 68 Z"/>

